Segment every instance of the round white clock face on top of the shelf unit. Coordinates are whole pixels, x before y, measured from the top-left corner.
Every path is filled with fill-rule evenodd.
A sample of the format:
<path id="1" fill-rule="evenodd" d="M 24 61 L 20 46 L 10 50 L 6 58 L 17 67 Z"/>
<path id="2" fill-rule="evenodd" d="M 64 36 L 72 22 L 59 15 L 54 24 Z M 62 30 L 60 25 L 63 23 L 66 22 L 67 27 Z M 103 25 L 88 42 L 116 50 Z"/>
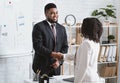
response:
<path id="1" fill-rule="evenodd" d="M 76 18 L 74 15 L 69 14 L 65 17 L 65 23 L 69 26 L 73 26 L 76 23 Z"/>

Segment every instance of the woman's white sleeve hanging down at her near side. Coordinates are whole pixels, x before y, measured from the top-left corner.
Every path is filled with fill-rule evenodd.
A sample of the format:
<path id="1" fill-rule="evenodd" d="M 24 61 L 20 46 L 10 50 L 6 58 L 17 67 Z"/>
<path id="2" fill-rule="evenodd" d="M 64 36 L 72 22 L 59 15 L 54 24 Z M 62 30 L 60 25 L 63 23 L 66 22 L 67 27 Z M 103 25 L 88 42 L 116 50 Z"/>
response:
<path id="1" fill-rule="evenodd" d="M 75 78 L 75 83 L 77 82 L 82 82 L 85 74 L 86 74 L 86 70 L 88 68 L 89 65 L 89 59 L 90 59 L 90 46 L 88 43 L 84 43 L 77 51 L 77 55 L 76 55 L 76 68 L 75 68 L 75 74 L 76 74 L 76 78 Z"/>

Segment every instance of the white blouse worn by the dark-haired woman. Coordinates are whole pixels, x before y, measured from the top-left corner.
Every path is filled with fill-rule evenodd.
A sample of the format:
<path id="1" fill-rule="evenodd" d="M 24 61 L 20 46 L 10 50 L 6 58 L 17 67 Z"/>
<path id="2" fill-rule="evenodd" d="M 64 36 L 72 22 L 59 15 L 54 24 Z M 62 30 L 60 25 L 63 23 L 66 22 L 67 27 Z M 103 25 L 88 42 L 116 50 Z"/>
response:
<path id="1" fill-rule="evenodd" d="M 97 60 L 100 44 L 84 39 L 80 44 L 75 58 L 74 83 L 105 83 L 97 73 Z M 73 54 L 66 55 L 66 59 L 74 59 Z"/>

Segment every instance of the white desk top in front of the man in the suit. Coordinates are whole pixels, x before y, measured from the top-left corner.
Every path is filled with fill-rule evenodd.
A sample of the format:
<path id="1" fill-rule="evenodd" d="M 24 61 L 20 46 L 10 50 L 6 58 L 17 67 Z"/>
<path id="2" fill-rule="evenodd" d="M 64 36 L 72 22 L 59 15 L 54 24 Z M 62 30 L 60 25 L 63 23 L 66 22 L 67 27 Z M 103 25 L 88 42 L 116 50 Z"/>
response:
<path id="1" fill-rule="evenodd" d="M 72 77 L 73 75 L 60 75 L 60 76 L 54 76 L 50 78 L 49 83 L 72 83 L 72 82 L 67 82 L 64 81 L 64 78 L 69 78 Z M 33 81 L 32 79 L 24 80 L 24 83 L 38 83 L 38 81 Z"/>

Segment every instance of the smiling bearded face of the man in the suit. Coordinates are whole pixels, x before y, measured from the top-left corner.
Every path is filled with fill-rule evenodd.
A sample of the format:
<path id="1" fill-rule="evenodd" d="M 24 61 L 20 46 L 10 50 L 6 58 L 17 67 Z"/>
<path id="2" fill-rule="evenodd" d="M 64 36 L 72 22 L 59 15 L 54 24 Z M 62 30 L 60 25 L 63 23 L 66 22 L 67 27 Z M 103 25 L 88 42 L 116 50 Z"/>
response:
<path id="1" fill-rule="evenodd" d="M 58 11 L 57 8 L 51 8 L 45 13 L 46 18 L 51 23 L 56 23 L 58 21 Z"/>

